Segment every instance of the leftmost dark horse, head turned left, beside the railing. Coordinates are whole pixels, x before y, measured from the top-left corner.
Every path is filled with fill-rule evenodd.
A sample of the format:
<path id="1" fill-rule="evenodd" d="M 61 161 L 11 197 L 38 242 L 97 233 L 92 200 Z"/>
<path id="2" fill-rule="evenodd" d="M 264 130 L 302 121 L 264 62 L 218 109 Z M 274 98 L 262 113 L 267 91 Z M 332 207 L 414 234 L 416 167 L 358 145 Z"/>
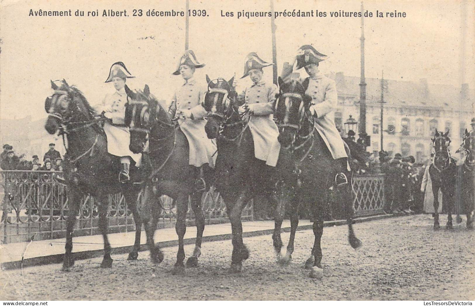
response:
<path id="1" fill-rule="evenodd" d="M 84 95 L 65 80 L 51 81 L 54 94 L 45 101 L 48 113 L 45 129 L 49 134 L 63 135 L 68 147 L 64 155 L 63 173 L 66 180 L 69 215 L 66 225 L 66 254 L 63 270 L 74 265 L 71 254 L 72 234 L 79 204 L 85 194 L 94 196 L 99 202 L 99 229 L 104 238 L 104 259 L 102 268 L 112 267 L 111 246 L 107 239 L 108 194 L 122 192 L 135 221 L 135 242 L 128 259 L 137 259 L 140 249 L 142 223 L 136 201 L 140 192 L 138 184 L 121 184 L 118 181 L 121 163 L 119 157 L 107 153 L 107 139 L 101 123 L 104 117 L 95 118 L 95 111 Z M 133 178 L 140 179 L 140 171 L 133 169 Z"/>

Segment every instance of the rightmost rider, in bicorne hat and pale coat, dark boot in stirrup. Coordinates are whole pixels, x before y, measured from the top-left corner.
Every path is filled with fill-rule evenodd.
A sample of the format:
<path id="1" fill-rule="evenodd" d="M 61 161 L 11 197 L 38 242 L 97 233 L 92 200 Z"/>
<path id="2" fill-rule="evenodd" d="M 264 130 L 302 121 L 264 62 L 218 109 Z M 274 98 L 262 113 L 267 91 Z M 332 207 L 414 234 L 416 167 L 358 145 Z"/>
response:
<path id="1" fill-rule="evenodd" d="M 327 58 L 328 56 L 318 52 L 313 46 L 304 45 L 297 50 L 294 65 L 287 64 L 287 66 L 284 66 L 282 78 L 285 82 L 288 82 L 293 71 L 305 68 L 308 77 L 300 81 L 302 84 L 308 82 L 305 94 L 312 98 L 310 110 L 315 118 L 315 129 L 322 136 L 323 142 L 332 153 L 333 159 L 339 160 L 342 169 L 349 169 L 345 146 L 333 121 L 333 111 L 338 104 L 336 84 L 333 79 L 324 76 L 318 68 L 319 63 Z M 346 175 L 343 172 L 338 173 L 337 182 L 348 182 L 349 178 L 345 179 L 345 177 Z"/>

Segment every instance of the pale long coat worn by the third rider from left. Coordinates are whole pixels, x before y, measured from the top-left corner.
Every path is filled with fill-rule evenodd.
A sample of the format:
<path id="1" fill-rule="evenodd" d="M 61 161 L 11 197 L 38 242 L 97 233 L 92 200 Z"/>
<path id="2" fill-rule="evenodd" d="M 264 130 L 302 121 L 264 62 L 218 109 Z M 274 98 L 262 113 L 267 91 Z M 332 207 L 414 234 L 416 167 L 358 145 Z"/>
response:
<path id="1" fill-rule="evenodd" d="M 248 105 L 252 115 L 249 129 L 254 140 L 254 152 L 257 159 L 275 167 L 279 158 L 280 143 L 277 140 L 279 129 L 274 122 L 273 113 L 276 94 L 279 90 L 275 84 L 260 81 L 247 87 L 239 98 Z"/>

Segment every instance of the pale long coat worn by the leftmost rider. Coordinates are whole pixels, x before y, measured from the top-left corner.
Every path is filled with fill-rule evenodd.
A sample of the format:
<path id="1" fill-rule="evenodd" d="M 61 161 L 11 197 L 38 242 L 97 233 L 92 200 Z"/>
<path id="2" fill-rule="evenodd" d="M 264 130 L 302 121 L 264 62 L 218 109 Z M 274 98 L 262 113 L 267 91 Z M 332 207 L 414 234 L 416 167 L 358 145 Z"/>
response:
<path id="1" fill-rule="evenodd" d="M 105 95 L 102 105 L 96 105 L 95 110 L 100 114 L 104 110 L 112 109 L 112 114 L 107 114 L 107 117 L 112 119 L 112 124 L 109 121 L 104 123 L 104 132 L 107 135 L 107 151 L 116 156 L 130 156 L 138 166 L 142 154 L 134 154 L 129 150 L 130 132 L 128 127 L 123 126 L 125 103 L 127 103 L 127 94 L 125 89 L 122 88 L 120 91 Z"/>

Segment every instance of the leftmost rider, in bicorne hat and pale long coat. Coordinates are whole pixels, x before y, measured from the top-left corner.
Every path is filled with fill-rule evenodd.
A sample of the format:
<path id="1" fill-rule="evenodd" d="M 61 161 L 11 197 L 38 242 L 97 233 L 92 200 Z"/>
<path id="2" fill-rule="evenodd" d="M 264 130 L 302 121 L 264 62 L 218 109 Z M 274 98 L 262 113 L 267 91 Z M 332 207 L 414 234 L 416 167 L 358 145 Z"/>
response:
<path id="1" fill-rule="evenodd" d="M 123 62 L 112 64 L 105 83 L 112 82 L 115 90 L 113 93 L 105 95 L 102 105 L 95 105 L 97 113 L 103 113 L 106 118 L 110 119 L 104 123 L 107 152 L 120 157 L 122 170 L 119 173 L 119 182 L 123 183 L 130 181 L 131 159 L 137 165 L 142 158 L 142 154 L 134 154 L 130 151 L 130 132 L 124 122 L 125 104 L 127 103 L 125 81 L 127 78 L 133 77 L 135 76 L 130 74 Z M 51 160 L 54 161 L 56 158 Z"/>

